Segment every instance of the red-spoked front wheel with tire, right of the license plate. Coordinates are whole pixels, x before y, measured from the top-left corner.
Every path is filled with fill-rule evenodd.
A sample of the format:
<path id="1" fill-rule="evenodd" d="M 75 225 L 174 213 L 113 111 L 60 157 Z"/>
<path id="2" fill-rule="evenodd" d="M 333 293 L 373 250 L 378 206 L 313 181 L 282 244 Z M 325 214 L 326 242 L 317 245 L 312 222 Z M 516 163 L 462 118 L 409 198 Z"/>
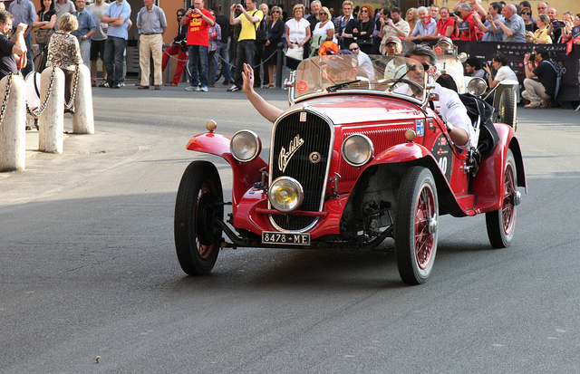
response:
<path id="1" fill-rule="evenodd" d="M 425 283 L 437 253 L 439 201 L 428 168 L 407 170 L 395 209 L 395 251 L 404 283 Z"/>

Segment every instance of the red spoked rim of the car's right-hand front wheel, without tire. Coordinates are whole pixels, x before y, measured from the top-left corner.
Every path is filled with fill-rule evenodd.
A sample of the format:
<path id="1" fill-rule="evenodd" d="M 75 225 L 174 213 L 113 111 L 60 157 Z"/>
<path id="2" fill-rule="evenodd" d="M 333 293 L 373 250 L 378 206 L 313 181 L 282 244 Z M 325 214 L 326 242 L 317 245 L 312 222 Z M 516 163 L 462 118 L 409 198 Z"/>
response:
<path id="1" fill-rule="evenodd" d="M 415 257 L 421 269 L 429 266 L 435 245 L 435 229 L 431 225 L 437 219 L 435 195 L 430 185 L 424 184 L 417 197 L 415 210 Z"/>

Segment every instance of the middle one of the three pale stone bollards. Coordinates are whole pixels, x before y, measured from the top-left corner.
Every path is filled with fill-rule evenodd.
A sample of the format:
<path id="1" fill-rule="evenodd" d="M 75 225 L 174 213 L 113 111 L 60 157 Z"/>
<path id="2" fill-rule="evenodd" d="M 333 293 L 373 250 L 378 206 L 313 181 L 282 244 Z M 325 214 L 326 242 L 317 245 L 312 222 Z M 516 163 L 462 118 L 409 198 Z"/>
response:
<path id="1" fill-rule="evenodd" d="M 54 72 L 53 88 L 48 92 Z M 41 76 L 40 102 L 50 94 L 46 109 L 38 117 L 38 149 L 48 153 L 63 153 L 64 131 L 64 73 L 59 68 L 46 68 Z"/>

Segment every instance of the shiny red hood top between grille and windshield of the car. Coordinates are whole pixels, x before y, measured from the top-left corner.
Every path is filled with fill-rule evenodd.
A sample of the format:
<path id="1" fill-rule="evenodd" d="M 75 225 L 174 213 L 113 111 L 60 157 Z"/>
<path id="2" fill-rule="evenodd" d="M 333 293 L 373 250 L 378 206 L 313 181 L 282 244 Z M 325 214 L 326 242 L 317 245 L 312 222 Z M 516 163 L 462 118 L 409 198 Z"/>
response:
<path id="1" fill-rule="evenodd" d="M 425 113 L 417 105 L 407 101 L 377 96 L 328 96 L 302 101 L 292 108 L 300 107 L 307 107 L 323 113 L 333 121 L 334 125 L 425 118 Z"/>

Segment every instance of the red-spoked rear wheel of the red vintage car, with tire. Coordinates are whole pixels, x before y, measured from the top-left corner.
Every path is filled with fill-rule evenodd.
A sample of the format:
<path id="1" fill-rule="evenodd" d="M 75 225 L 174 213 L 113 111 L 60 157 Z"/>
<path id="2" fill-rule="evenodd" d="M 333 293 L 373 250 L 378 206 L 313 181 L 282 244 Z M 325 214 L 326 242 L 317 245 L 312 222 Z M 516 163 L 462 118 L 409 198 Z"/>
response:
<path id="1" fill-rule="evenodd" d="M 503 204 L 496 211 L 486 213 L 489 243 L 494 248 L 506 248 L 511 245 L 516 228 L 516 206 L 514 198 L 517 187 L 516 161 L 511 149 L 507 149 L 504 165 Z"/>

